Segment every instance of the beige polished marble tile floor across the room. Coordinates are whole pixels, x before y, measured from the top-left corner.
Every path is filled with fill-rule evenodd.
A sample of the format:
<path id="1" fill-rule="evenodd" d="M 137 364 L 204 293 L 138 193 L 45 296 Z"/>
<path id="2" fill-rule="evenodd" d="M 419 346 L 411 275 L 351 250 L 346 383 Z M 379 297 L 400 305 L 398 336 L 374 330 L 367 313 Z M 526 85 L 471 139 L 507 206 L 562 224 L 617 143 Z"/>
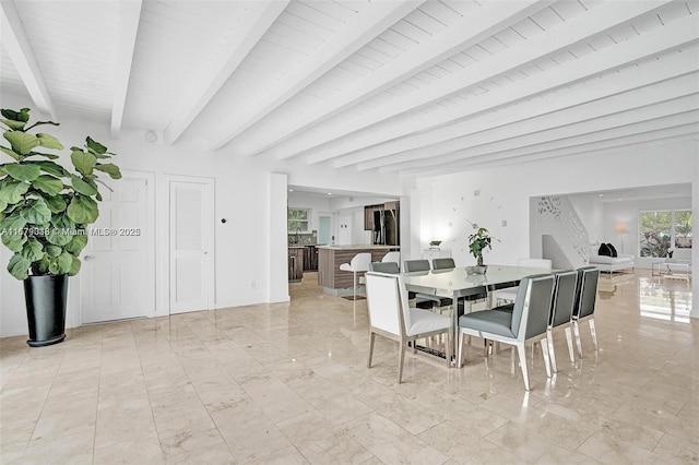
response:
<path id="1" fill-rule="evenodd" d="M 0 339 L 0 463 L 697 463 L 699 321 L 686 282 L 603 277 L 600 351 L 587 325 L 574 365 L 511 350 L 466 366 L 379 341 L 366 368 L 366 301 L 322 295 L 316 275 L 288 305 L 84 326 L 29 349 Z"/>

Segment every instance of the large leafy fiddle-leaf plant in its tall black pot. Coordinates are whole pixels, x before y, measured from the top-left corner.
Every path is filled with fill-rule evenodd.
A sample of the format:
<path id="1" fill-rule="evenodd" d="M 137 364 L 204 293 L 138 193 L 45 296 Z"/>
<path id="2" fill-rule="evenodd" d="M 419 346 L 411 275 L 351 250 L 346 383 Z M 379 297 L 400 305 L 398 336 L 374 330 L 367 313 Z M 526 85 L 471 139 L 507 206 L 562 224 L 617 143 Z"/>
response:
<path id="1" fill-rule="evenodd" d="M 87 246 L 87 226 L 99 215 L 98 174 L 121 178 L 109 162 L 112 153 L 92 138 L 84 147 L 71 147 L 74 170 L 58 163 L 55 153 L 63 145 L 50 134 L 34 132 L 29 109 L 0 110 L 0 123 L 10 157 L 0 164 L 0 236 L 13 253 L 8 264 L 12 276 L 24 281 L 29 346 L 45 346 L 66 338 L 68 276 L 80 271 L 79 255 Z M 32 132 L 31 132 L 32 131 Z"/>

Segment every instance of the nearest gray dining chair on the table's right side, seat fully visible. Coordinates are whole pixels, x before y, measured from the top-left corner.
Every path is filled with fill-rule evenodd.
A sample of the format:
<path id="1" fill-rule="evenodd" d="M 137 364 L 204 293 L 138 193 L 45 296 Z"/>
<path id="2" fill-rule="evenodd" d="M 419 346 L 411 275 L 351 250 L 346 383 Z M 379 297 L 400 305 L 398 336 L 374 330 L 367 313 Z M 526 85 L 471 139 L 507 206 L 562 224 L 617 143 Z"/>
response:
<path id="1" fill-rule="evenodd" d="M 529 342 L 541 342 L 546 375 L 550 377 L 546 330 L 554 291 L 553 275 L 528 276 L 520 281 L 512 312 L 481 310 L 459 318 L 459 350 L 457 365 L 461 368 L 463 339 L 477 336 L 488 341 L 510 344 L 517 347 L 524 389 L 530 391 L 526 350 Z"/>

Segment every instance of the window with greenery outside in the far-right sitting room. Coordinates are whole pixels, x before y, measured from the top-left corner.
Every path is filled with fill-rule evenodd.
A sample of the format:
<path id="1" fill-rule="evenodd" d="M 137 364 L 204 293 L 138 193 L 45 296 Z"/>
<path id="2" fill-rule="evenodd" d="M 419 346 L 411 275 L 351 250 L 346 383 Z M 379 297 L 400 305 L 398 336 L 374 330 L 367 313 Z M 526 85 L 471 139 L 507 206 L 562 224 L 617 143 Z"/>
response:
<path id="1" fill-rule="evenodd" d="M 641 257 L 671 257 L 675 249 L 691 249 L 691 219 L 689 210 L 641 212 Z"/>

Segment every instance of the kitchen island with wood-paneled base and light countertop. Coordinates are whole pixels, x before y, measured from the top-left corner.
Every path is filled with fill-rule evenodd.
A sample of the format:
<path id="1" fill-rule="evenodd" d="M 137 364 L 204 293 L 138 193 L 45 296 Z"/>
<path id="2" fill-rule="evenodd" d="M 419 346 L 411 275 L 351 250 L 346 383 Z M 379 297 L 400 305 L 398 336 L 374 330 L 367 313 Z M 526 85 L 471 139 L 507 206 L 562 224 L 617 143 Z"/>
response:
<path id="1" fill-rule="evenodd" d="M 372 262 L 380 262 L 383 255 L 398 246 L 318 246 L 318 284 L 325 294 L 340 296 L 352 291 L 354 285 L 352 272 L 340 270 L 342 263 L 350 263 L 357 253 L 371 253 Z M 357 273 L 357 282 L 364 273 Z"/>

